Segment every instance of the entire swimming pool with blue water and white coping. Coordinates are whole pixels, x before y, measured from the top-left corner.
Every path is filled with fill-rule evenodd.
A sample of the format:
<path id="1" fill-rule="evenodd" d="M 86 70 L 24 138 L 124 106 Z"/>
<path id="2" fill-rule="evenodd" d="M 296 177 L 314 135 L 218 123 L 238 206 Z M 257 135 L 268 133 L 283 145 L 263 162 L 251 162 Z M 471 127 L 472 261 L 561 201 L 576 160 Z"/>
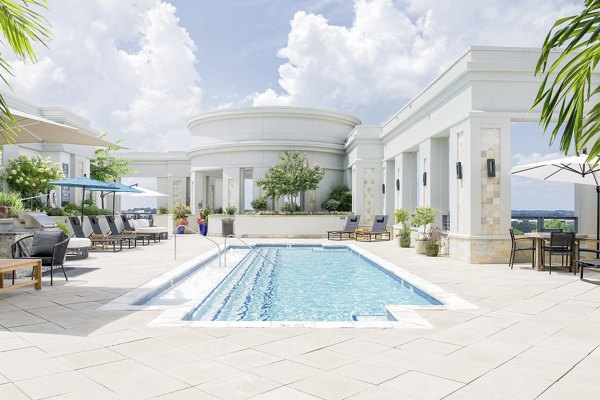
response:
<path id="1" fill-rule="evenodd" d="M 100 309 L 162 311 L 151 322 L 157 326 L 422 329 L 430 328 L 431 324 L 423 318 L 420 310 L 476 308 L 397 263 L 351 243 L 258 243 L 253 250 L 247 246 L 228 246 L 226 254 L 227 266 L 224 266 L 225 263 L 220 265 L 217 249 L 203 253 L 124 293 Z M 327 261 L 327 254 L 338 257 L 340 265 Z M 224 261 L 225 257 L 221 259 Z M 294 264 L 295 267 L 288 265 L 275 271 L 270 268 L 271 261 L 286 259 L 299 263 Z M 366 264 L 355 266 L 354 263 L 359 260 Z M 397 262 L 409 260 L 410 257 Z M 248 277 L 252 284 L 240 283 L 242 281 L 238 278 L 242 275 Z M 256 277 L 268 279 L 264 282 L 259 279 L 254 286 Z M 376 299 L 384 292 L 379 283 L 375 283 L 380 279 L 386 281 L 383 286 L 389 285 L 385 290 L 391 290 L 392 294 Z M 361 287 L 357 282 L 363 285 L 362 289 L 356 290 Z M 236 290 L 232 291 L 234 286 Z M 241 291 L 242 288 L 246 291 Z M 293 300 L 282 298 L 284 289 L 303 297 Z M 337 294 L 333 294 L 333 289 L 337 290 Z M 262 299 L 262 303 L 252 302 L 253 298 L 255 301 Z M 224 299 L 227 301 L 224 302 Z M 298 311 L 300 306 L 305 309 Z M 216 314 L 219 315 L 215 318 Z M 231 319 L 226 319 L 227 314 L 230 314 L 227 318 Z M 251 319 L 251 316 L 256 319 Z"/>

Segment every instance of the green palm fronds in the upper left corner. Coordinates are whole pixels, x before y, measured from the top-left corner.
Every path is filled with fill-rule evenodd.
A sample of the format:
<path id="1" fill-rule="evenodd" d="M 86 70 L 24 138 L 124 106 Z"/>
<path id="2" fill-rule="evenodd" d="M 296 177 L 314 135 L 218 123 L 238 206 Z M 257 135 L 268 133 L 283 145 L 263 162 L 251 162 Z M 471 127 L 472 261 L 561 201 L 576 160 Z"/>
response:
<path id="1" fill-rule="evenodd" d="M 46 0 L 0 0 L 0 46 L 10 47 L 20 61 L 35 63 L 37 57 L 33 45 L 39 43 L 46 46 L 44 40 L 50 38 L 50 25 L 32 8 L 46 9 L 47 6 Z M 0 57 L 0 79 L 12 90 L 7 74 L 12 76 L 12 68 Z M 17 126 L 6 101 L 0 95 L 0 135 L 10 143 L 18 134 L 15 129 Z"/>

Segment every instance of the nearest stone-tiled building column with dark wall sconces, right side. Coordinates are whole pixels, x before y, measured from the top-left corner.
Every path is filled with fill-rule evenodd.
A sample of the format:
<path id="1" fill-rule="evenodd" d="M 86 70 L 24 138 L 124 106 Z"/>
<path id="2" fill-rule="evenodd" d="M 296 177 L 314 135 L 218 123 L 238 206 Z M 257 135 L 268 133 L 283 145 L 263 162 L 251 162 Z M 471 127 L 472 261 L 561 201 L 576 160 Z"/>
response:
<path id="1" fill-rule="evenodd" d="M 460 161 L 463 174 L 462 180 L 456 172 L 449 177 L 453 257 L 472 263 L 508 260 L 510 132 L 509 118 L 471 118 L 450 129 L 450 162 L 456 168 Z"/>

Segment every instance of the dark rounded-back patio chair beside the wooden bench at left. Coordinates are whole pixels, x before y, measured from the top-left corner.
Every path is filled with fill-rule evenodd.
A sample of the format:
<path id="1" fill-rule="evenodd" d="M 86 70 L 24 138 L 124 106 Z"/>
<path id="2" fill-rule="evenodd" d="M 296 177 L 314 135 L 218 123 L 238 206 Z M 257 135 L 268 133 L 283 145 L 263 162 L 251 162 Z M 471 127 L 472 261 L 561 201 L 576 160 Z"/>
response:
<path id="1" fill-rule="evenodd" d="M 69 237 L 62 231 L 35 231 L 33 235 L 25 236 L 11 245 L 12 258 L 39 258 L 42 266 L 50 267 L 50 286 L 54 284 L 53 271 L 59 266 L 63 271 L 65 280 L 69 280 L 65 272 L 65 258 Z M 31 271 L 33 279 L 33 269 Z M 12 283 L 15 283 L 15 271 L 12 275 Z"/>

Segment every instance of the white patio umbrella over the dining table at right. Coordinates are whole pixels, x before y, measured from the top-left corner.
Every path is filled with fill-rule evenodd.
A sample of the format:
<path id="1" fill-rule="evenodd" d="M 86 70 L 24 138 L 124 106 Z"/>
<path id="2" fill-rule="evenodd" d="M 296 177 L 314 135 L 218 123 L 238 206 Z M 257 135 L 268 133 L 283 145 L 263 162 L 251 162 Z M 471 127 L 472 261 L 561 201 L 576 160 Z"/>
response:
<path id="1" fill-rule="evenodd" d="M 531 164 L 517 165 L 511 175 L 543 181 L 568 182 L 596 187 L 596 239 L 600 239 L 600 158 L 588 162 L 587 155 L 571 156 Z"/>

